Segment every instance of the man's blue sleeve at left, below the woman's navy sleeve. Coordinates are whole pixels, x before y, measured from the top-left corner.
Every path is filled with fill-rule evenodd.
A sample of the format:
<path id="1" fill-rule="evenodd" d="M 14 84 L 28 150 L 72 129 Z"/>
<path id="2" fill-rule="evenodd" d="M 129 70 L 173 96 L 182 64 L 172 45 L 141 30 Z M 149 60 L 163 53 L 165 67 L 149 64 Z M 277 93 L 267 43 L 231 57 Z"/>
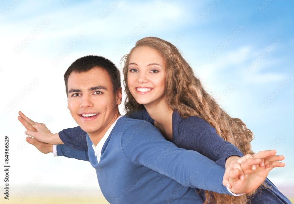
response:
<path id="1" fill-rule="evenodd" d="M 64 144 L 59 144 L 56 147 L 57 156 L 64 156 L 83 161 L 89 161 L 88 150 L 76 150 Z"/>

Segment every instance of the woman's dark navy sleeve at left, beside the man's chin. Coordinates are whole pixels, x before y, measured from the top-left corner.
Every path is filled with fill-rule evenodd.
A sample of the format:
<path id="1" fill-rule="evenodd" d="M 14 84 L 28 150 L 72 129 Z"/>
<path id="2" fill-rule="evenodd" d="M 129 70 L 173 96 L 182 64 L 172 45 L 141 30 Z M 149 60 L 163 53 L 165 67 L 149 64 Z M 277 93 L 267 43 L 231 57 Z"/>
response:
<path id="1" fill-rule="evenodd" d="M 68 128 L 60 131 L 59 138 L 68 147 L 77 150 L 88 150 L 86 135 L 81 127 Z"/>

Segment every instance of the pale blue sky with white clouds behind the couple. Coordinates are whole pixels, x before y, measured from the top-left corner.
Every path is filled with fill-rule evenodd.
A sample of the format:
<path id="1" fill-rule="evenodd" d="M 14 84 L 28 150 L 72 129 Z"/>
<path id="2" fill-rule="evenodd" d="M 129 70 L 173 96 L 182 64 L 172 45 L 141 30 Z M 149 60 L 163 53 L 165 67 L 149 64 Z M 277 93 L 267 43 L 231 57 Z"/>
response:
<path id="1" fill-rule="evenodd" d="M 294 183 L 293 6 L 277 0 L 1 1 L 0 135 L 10 138 L 10 183 L 21 192 L 41 176 L 38 187 L 71 192 L 93 173 L 86 162 L 59 161 L 26 145 L 17 112 L 54 133 L 76 126 L 63 82 L 69 65 L 85 55 L 119 65 L 137 40 L 154 36 L 175 44 L 208 93 L 252 130 L 255 152 L 275 148 L 285 155 L 286 166 L 269 178 L 287 191 Z M 87 188 L 97 186 L 93 181 Z"/>

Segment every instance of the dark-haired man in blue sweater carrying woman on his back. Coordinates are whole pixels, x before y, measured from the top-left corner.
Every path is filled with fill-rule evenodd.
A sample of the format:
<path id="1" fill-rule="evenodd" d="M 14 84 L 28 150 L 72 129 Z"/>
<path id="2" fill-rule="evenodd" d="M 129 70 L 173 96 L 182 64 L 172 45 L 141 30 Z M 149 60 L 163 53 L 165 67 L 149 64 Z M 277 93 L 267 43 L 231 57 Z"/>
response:
<path id="1" fill-rule="evenodd" d="M 68 108 L 87 132 L 88 151 L 26 139 L 43 153 L 90 161 L 110 203 L 201 203 L 195 187 L 233 195 L 249 193 L 258 188 L 270 169 L 282 164 L 276 162 L 280 157 L 271 157 L 274 165 L 267 169 L 257 166 L 254 171 L 251 166 L 261 159 L 244 157 L 241 166 L 245 179 L 239 179 L 240 170 L 235 169 L 229 172 L 229 181 L 223 181 L 225 169 L 214 161 L 176 147 L 146 121 L 120 115 L 120 74 L 109 60 L 82 57 L 71 64 L 64 80 Z M 23 124 L 24 120 L 34 123 L 20 115 Z M 274 154 L 264 152 L 262 157 Z M 231 192 L 223 186 L 230 186 L 228 182 L 232 184 Z"/>

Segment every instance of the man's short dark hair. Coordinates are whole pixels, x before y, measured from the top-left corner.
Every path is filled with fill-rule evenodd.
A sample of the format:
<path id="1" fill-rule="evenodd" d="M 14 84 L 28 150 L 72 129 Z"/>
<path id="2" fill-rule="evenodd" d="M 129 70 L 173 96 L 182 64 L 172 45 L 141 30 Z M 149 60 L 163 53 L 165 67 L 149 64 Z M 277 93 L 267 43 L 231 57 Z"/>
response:
<path id="1" fill-rule="evenodd" d="M 101 56 L 88 55 L 74 61 L 66 70 L 64 74 L 66 95 L 68 94 L 67 81 L 71 72 L 87 72 L 94 67 L 104 69 L 108 73 L 111 79 L 114 93 L 118 90 L 119 87 L 121 87 L 121 74 L 113 62 Z"/>

